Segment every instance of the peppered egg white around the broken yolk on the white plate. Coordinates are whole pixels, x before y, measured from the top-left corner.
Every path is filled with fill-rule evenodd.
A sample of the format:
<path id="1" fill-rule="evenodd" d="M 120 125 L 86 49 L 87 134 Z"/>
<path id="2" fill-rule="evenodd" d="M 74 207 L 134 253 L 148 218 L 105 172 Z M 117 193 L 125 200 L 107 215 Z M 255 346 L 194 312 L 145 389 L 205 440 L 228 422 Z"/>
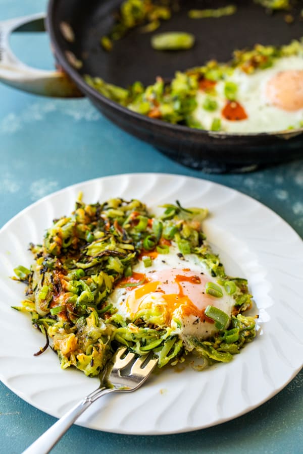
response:
<path id="1" fill-rule="evenodd" d="M 181 256 L 179 250 L 176 246 L 171 246 L 168 254 L 159 254 L 153 263 L 149 267 L 145 267 L 142 260 L 140 260 L 136 266 L 133 268 L 133 271 L 136 273 L 145 274 L 147 279 L 148 276 L 152 276 L 153 273 L 158 273 L 161 275 L 163 270 L 173 270 L 173 272 L 180 271 L 180 274 L 184 274 L 184 269 L 188 269 L 196 275 L 203 275 L 203 279 L 209 282 L 216 282 L 216 278 L 211 276 L 206 265 L 199 260 L 199 258 L 194 254 L 187 254 L 186 256 Z M 179 273 L 178 271 L 178 273 Z M 158 279 L 158 277 L 157 277 Z M 157 280 L 155 279 L 155 280 Z M 217 284 L 218 285 L 218 284 Z M 132 307 L 134 302 L 134 292 L 139 287 L 135 288 L 119 288 L 119 286 L 114 290 L 114 292 L 109 297 L 109 303 L 117 309 L 117 313 L 120 314 L 123 319 L 127 322 L 131 322 L 134 317 L 132 313 Z M 234 308 L 234 299 L 232 296 L 228 295 L 225 289 L 222 287 L 222 298 L 210 297 L 206 294 L 201 294 L 200 308 L 205 308 L 208 305 L 213 305 L 222 311 L 224 311 L 231 317 L 232 310 Z M 189 296 L 190 298 L 190 296 Z M 132 301 L 132 304 L 129 304 L 129 301 Z M 167 311 L 167 303 L 162 297 L 161 292 L 151 292 L 148 295 L 145 295 L 142 301 L 140 300 L 140 310 L 142 307 L 151 307 L 157 309 L 163 314 Z M 226 324 L 228 326 L 229 322 Z M 165 327 L 165 326 L 162 326 Z M 210 323 L 207 320 L 201 320 L 197 315 L 182 313 L 182 309 L 179 307 L 173 313 L 170 313 L 170 323 L 169 327 L 172 329 L 172 334 L 178 334 L 180 338 L 186 339 L 188 336 L 195 336 L 199 339 L 207 339 L 212 336 L 218 329 L 215 327 L 214 323 Z"/>

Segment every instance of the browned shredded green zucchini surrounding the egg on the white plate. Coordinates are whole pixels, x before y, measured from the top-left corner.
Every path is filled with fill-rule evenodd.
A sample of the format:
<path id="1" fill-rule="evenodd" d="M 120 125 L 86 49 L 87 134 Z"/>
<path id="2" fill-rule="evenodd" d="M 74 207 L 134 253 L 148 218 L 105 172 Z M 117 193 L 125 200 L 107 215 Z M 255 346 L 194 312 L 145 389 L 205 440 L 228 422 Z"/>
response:
<path id="1" fill-rule="evenodd" d="M 27 285 L 26 299 L 14 309 L 29 312 L 33 326 L 46 336 L 45 347 L 36 355 L 49 344 L 62 368 L 75 366 L 85 375 L 95 376 L 121 344 L 138 355 L 153 350 L 159 356 L 159 367 L 163 367 L 183 362 L 189 352 L 203 358 L 205 365 L 228 362 L 254 339 L 255 318 L 242 315 L 251 306 L 247 281 L 227 276 L 206 242 L 201 221 L 207 210 L 185 209 L 179 202 L 164 208 L 164 213 L 155 217 L 138 200 L 78 201 L 71 215 L 54 220 L 42 245 L 30 245 L 34 264 L 14 270 L 14 279 Z M 233 295 L 233 315 L 227 329 L 222 328 L 226 314 L 208 306 L 208 319 L 213 319 L 219 330 L 207 341 L 195 336 L 182 340 L 172 327 L 157 324 L 155 313 L 125 319 L 109 304 L 115 287 L 132 278 L 142 253 L 167 254 L 173 245 L 179 249 L 179 257 L 194 253 L 216 277 L 217 284 L 208 282 L 207 293 L 220 298 L 224 288 Z M 144 265 L 148 267 L 147 259 L 150 257 Z"/>

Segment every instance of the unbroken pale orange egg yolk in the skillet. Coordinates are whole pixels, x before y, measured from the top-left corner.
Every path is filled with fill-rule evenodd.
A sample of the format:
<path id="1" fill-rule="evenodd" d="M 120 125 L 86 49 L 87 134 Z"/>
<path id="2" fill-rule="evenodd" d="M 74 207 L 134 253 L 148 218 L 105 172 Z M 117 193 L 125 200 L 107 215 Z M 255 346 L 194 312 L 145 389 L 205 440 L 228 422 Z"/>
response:
<path id="1" fill-rule="evenodd" d="M 303 108 L 303 70 L 277 73 L 266 86 L 267 99 L 277 107 L 294 111 Z"/>

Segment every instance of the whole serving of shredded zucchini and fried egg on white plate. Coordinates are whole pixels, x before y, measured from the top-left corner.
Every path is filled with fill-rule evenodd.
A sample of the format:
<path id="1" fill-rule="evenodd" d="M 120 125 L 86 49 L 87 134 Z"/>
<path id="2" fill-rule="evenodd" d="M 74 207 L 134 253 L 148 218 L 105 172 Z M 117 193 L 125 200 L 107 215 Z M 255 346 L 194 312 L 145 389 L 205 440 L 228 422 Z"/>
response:
<path id="1" fill-rule="evenodd" d="M 165 204 L 157 217 L 138 200 L 85 204 L 30 245 L 15 268 L 27 283 L 17 310 L 51 339 L 61 367 L 99 375 L 120 346 L 153 351 L 158 366 L 189 353 L 198 369 L 229 362 L 256 335 L 247 280 L 227 276 L 201 228 L 204 208 Z"/>

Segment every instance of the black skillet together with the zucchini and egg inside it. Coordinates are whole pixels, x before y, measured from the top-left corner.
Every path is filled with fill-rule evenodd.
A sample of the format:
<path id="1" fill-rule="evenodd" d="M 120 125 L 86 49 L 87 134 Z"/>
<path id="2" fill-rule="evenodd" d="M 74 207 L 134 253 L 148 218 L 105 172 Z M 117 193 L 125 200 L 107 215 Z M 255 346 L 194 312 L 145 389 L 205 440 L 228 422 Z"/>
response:
<path id="1" fill-rule="evenodd" d="M 121 23 L 136 19 L 136 11 L 144 19 L 142 4 L 162 5 L 49 2 L 56 59 L 81 93 L 118 126 L 195 168 L 247 170 L 301 156 L 301 98 L 293 97 L 302 71 L 299 0 L 167 2 L 162 17 L 153 10 L 156 19 L 135 21 L 121 36 Z M 185 39 L 190 48 L 162 50 L 161 35 L 171 32 L 192 35 L 189 45 Z M 56 95 L 62 73 L 42 87 L 38 79 L 35 73 L 27 89 Z"/>

